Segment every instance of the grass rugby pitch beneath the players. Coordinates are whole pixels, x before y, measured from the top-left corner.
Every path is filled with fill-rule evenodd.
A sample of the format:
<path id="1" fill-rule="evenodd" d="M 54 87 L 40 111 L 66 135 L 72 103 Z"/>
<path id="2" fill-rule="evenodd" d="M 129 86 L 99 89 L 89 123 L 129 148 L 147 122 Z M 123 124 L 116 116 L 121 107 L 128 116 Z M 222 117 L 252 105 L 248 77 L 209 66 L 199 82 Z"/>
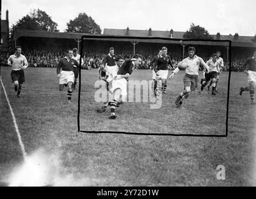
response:
<path id="1" fill-rule="evenodd" d="M 17 98 L 11 68 L 1 68 L 2 82 L 16 116 L 27 154 L 44 149 L 57 155 L 62 175 L 72 175 L 64 185 L 80 186 L 246 186 L 255 185 L 255 109 L 249 93 L 239 96 L 247 84 L 244 73 L 232 72 L 228 137 L 173 137 L 77 132 L 77 95 L 67 103 L 66 91 L 58 91 L 56 68 L 27 68 L 26 83 Z M 199 88 L 182 109 L 174 99 L 182 90 L 183 72 L 168 80 L 162 107 L 150 103 L 125 103 L 117 119 L 96 113 L 94 83 L 97 70 L 82 70 L 81 130 L 174 134 L 225 134 L 227 76 L 220 76 L 219 93 Z M 200 73 L 200 75 L 202 75 Z M 150 80 L 149 70 L 135 70 L 130 80 Z M 9 106 L 0 87 L 0 181 L 21 164 L 22 154 Z M 225 180 L 217 180 L 217 165 L 225 166 Z M 67 178 L 71 179 L 71 178 Z"/>

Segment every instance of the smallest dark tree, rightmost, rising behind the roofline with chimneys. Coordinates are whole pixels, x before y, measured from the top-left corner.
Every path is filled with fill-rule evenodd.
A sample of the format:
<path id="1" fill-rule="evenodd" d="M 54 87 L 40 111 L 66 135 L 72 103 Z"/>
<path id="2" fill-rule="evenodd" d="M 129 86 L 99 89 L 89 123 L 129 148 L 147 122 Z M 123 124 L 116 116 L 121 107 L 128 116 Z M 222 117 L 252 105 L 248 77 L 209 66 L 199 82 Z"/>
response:
<path id="1" fill-rule="evenodd" d="M 190 29 L 187 30 L 184 35 L 184 39 L 214 39 L 209 35 L 209 32 L 204 29 L 204 27 L 200 27 L 199 25 L 191 24 Z"/>

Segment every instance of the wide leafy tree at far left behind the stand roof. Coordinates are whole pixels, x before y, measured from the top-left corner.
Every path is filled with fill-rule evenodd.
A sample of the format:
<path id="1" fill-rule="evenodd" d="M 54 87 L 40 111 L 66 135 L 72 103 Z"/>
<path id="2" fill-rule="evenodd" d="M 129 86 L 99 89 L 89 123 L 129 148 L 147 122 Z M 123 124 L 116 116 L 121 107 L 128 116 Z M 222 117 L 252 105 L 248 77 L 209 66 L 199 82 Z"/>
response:
<path id="1" fill-rule="evenodd" d="M 52 21 L 46 12 L 34 9 L 22 19 L 12 25 L 11 33 L 15 29 L 22 30 L 45 30 L 47 32 L 59 32 L 56 22 Z"/>

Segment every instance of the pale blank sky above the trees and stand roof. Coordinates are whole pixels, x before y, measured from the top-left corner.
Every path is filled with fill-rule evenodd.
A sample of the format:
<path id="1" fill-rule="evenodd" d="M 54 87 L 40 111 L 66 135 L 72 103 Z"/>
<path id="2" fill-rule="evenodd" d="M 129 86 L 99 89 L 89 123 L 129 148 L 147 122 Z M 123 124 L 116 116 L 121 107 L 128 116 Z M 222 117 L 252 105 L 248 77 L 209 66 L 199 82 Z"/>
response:
<path id="1" fill-rule="evenodd" d="M 255 0 L 2 0 L 2 19 L 9 11 L 15 24 L 32 9 L 41 9 L 64 32 L 67 22 L 86 12 L 104 29 L 170 30 L 185 32 L 190 24 L 210 34 L 256 34 Z"/>

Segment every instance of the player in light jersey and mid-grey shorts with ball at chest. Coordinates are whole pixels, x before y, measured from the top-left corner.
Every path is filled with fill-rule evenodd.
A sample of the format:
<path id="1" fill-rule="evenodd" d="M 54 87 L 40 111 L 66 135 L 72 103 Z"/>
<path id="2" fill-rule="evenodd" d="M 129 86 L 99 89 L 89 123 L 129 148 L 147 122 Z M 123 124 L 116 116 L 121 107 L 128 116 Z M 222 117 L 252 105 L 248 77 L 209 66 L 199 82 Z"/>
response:
<path id="1" fill-rule="evenodd" d="M 206 73 L 209 73 L 209 66 L 204 62 L 201 57 L 195 55 L 195 47 L 189 47 L 189 57 L 184 58 L 181 62 L 178 63 L 178 67 L 172 72 L 169 78 L 173 78 L 174 75 L 179 72 L 179 66 L 186 66 L 185 76 L 183 78 L 184 90 L 180 95 L 175 99 L 175 104 L 177 107 L 180 107 L 184 99 L 189 97 L 190 91 L 194 91 L 198 83 L 199 75 L 199 66 L 203 65 L 207 70 Z"/>

